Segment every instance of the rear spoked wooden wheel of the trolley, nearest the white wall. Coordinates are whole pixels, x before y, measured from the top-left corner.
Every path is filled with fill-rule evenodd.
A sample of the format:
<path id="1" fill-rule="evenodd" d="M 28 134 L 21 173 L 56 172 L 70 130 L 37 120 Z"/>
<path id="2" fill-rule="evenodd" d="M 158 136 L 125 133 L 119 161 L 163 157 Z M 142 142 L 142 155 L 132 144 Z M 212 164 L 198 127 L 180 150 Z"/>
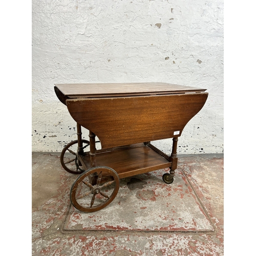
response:
<path id="1" fill-rule="evenodd" d="M 90 148 L 90 142 L 88 140 L 82 140 L 83 150 Z M 77 163 L 77 146 L 78 140 L 71 141 L 67 144 L 60 154 L 60 163 L 62 167 L 71 174 L 81 174 L 84 169 Z"/>

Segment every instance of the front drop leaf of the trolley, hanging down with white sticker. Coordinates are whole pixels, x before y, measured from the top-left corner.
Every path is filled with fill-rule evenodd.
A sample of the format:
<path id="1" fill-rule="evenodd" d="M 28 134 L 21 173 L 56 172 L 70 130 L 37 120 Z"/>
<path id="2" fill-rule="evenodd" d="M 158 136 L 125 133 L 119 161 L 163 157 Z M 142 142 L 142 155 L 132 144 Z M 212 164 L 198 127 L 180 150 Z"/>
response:
<path id="1" fill-rule="evenodd" d="M 73 119 L 98 136 L 102 148 L 179 137 L 208 93 L 67 99 Z"/>

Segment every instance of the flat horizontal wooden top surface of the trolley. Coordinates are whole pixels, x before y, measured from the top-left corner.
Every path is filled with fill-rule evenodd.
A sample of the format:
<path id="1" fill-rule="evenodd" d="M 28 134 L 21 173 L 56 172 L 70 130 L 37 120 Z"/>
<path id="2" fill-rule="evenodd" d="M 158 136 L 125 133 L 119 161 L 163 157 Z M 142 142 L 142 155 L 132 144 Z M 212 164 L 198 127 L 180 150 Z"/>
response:
<path id="1" fill-rule="evenodd" d="M 206 89 L 179 86 L 163 82 L 141 83 L 66 83 L 55 84 L 58 90 L 68 98 L 110 97 L 133 95 L 177 94 L 204 92 Z"/>

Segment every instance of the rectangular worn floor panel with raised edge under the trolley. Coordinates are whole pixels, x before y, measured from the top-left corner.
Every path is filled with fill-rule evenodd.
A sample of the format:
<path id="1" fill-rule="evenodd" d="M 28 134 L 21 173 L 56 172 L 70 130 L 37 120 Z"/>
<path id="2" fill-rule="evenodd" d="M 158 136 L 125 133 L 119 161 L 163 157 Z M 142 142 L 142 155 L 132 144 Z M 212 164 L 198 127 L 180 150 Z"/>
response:
<path id="1" fill-rule="evenodd" d="M 80 212 L 70 205 L 63 231 L 168 231 L 211 232 L 215 230 L 195 189 L 181 168 L 166 184 L 167 169 L 120 180 L 111 204 L 96 212 Z"/>

